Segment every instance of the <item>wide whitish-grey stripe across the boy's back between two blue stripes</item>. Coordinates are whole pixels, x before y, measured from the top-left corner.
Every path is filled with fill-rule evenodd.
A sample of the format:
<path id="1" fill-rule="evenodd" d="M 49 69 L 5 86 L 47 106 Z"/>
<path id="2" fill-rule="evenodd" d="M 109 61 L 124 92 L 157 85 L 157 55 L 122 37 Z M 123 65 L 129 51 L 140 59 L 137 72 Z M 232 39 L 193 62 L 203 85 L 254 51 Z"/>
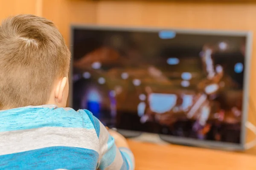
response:
<path id="1" fill-rule="evenodd" d="M 99 153 L 99 140 L 94 129 L 41 127 L 0 133 L 0 155 L 54 146 L 81 147 Z"/>

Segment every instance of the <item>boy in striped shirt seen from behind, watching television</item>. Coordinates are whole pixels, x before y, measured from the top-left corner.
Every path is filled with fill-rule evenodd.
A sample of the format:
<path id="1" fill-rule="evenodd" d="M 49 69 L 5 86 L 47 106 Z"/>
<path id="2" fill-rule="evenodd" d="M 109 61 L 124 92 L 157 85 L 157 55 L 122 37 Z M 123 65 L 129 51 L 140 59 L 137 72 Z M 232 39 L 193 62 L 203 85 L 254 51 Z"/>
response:
<path id="1" fill-rule="evenodd" d="M 132 170 L 123 136 L 64 108 L 70 51 L 54 24 L 17 15 L 0 26 L 0 169 Z"/>

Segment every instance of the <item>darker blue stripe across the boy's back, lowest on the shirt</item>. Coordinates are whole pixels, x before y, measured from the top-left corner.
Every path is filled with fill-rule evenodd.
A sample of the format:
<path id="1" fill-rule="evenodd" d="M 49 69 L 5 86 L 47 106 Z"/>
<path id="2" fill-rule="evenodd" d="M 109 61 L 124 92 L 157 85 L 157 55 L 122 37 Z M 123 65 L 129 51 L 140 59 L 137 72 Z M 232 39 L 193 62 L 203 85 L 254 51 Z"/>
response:
<path id="1" fill-rule="evenodd" d="M 99 154 L 79 147 L 46 147 L 0 156 L 1 170 L 95 170 Z"/>

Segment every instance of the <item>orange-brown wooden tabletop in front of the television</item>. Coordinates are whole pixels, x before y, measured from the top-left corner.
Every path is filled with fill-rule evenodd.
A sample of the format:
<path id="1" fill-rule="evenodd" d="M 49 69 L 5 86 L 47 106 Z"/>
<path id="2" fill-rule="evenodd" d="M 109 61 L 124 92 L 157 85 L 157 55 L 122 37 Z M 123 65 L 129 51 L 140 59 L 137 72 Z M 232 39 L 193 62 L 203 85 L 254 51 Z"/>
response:
<path id="1" fill-rule="evenodd" d="M 256 156 L 128 140 L 135 170 L 256 170 Z"/>

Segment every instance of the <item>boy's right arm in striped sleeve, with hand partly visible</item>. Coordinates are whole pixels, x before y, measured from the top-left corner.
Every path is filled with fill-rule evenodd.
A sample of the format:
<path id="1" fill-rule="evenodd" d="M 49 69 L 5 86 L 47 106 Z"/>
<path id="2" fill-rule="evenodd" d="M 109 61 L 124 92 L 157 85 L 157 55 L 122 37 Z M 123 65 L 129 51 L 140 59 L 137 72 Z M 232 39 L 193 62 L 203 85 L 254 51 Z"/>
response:
<path id="1" fill-rule="evenodd" d="M 92 115 L 85 111 L 90 117 L 99 138 L 99 170 L 134 170 L 134 155 L 128 148 L 125 138 L 116 132 L 108 132 L 106 127 Z M 122 137 L 121 137 L 122 136 Z M 119 140 L 120 139 L 120 140 Z M 118 144 L 119 146 L 116 146 Z"/>

